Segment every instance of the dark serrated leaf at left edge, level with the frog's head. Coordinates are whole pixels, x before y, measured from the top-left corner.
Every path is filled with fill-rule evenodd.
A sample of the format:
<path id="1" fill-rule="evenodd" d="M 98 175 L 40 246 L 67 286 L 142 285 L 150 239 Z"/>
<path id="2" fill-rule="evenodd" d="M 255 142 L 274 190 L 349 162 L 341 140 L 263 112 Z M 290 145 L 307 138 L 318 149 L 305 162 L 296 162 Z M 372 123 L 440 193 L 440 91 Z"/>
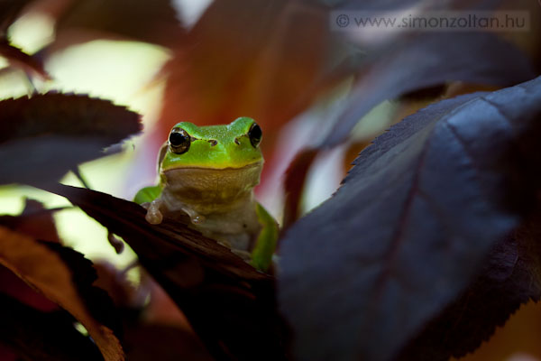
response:
<path id="1" fill-rule="evenodd" d="M 136 113 L 107 100 L 49 93 L 0 101 L 0 184 L 58 180 L 140 130 Z"/>

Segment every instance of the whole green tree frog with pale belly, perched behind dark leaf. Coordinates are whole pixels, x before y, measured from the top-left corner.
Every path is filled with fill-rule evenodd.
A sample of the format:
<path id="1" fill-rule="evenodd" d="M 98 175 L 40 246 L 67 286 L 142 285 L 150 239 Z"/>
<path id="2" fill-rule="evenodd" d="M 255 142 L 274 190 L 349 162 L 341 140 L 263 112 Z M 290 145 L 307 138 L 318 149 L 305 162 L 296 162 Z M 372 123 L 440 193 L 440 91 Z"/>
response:
<path id="1" fill-rule="evenodd" d="M 175 125 L 173 129 L 181 128 L 191 138 L 188 151 L 175 153 L 169 141 L 164 143 L 158 159 L 160 183 L 139 190 L 134 201 L 147 208 L 151 224 L 160 224 L 164 215 L 188 214 L 203 235 L 266 271 L 279 229 L 253 198 L 263 157 L 258 144 L 252 145 L 252 125 L 249 117 L 229 125 Z"/>

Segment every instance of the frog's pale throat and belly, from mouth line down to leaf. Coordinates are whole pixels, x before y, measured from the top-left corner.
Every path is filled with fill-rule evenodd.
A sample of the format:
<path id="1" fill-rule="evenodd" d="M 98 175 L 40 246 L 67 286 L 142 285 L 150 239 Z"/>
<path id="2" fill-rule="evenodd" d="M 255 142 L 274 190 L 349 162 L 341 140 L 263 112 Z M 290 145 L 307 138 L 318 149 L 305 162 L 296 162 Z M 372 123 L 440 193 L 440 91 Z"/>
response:
<path id="1" fill-rule="evenodd" d="M 234 250 L 251 252 L 261 231 L 252 190 L 259 183 L 260 171 L 261 165 L 168 171 L 160 196 L 163 210 L 184 211 L 203 235 Z"/>

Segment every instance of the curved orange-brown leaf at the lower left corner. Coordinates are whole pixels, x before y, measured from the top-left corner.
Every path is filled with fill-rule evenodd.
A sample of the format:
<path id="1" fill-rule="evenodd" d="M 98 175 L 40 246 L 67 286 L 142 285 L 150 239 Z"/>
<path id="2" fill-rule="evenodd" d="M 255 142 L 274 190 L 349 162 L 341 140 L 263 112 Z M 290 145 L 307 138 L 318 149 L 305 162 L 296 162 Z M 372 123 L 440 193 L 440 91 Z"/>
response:
<path id="1" fill-rule="evenodd" d="M 0 227 L 0 240 L 0 264 L 78 319 L 95 340 L 105 360 L 124 360 L 120 342 L 111 329 L 97 322 L 87 310 L 71 270 L 57 253 L 31 237 L 5 227 Z"/>

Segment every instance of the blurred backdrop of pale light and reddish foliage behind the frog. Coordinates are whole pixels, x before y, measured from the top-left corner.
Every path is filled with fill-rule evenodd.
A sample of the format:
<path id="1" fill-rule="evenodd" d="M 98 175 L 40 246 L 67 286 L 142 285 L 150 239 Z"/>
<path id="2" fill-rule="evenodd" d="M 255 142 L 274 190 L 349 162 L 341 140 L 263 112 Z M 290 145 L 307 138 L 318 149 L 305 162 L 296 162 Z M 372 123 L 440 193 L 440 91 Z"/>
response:
<path id="1" fill-rule="evenodd" d="M 132 199 L 156 180 L 156 156 L 172 125 L 252 116 L 263 129 L 266 159 L 257 198 L 286 226 L 330 197 L 357 154 L 404 116 L 441 98 L 516 84 L 541 65 L 535 0 L 15 2 L 0 2 L 0 12 L 12 11 L 0 17 L 8 41 L 0 45 L 0 98 L 88 94 L 142 115 L 143 132 L 124 142 L 124 152 L 81 165 L 92 189 Z M 464 32 L 333 26 L 336 11 L 469 9 L 524 11 L 530 28 L 477 32 L 472 40 Z M 72 173 L 61 181 L 81 186 Z M 10 185 L 0 187 L 0 213 L 21 213 L 27 198 L 69 206 Z M 66 245 L 125 277 L 139 295 L 133 302 L 149 304 L 154 296 L 149 319 L 186 326 L 158 286 L 131 267 L 129 247 L 116 255 L 106 229 L 76 208 L 55 219 Z M 146 291 L 137 293 L 142 283 Z M 464 359 L 541 360 L 540 335 L 541 309 L 528 304 Z"/>

